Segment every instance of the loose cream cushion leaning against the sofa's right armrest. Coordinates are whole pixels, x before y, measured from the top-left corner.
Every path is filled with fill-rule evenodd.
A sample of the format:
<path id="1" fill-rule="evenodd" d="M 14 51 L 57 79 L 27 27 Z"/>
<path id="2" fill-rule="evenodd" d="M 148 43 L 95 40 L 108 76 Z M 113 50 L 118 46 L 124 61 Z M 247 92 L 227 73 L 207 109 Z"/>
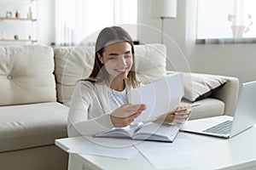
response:
<path id="1" fill-rule="evenodd" d="M 207 74 L 184 73 L 184 96 L 190 102 L 195 102 L 211 96 L 225 82 L 223 77 Z"/>

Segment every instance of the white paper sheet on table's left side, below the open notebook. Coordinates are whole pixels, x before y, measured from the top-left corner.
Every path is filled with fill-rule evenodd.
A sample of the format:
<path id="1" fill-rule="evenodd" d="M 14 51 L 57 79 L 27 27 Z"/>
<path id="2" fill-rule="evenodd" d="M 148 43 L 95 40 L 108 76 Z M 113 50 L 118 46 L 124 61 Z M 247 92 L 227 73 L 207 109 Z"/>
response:
<path id="1" fill-rule="evenodd" d="M 131 140 L 108 138 L 84 139 L 83 144 L 67 151 L 69 153 L 108 156 L 119 159 L 130 159 L 138 153 L 137 149 L 131 144 Z"/>

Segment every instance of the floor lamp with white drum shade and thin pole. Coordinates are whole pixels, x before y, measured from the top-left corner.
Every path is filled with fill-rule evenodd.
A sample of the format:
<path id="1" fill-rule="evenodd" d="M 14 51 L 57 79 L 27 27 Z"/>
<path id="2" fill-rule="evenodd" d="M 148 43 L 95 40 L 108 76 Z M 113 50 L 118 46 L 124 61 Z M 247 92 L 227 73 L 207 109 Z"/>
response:
<path id="1" fill-rule="evenodd" d="M 164 20 L 177 17 L 177 0 L 151 0 L 151 17 L 161 20 L 161 43 L 164 43 Z"/>

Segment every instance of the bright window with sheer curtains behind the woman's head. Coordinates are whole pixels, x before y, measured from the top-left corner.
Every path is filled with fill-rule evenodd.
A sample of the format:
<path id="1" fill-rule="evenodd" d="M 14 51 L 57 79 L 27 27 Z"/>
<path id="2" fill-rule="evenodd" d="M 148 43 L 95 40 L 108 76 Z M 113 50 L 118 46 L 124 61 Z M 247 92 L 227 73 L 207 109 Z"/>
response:
<path id="1" fill-rule="evenodd" d="M 56 0 L 55 23 L 56 45 L 76 45 L 106 26 L 136 25 L 137 0 Z"/>

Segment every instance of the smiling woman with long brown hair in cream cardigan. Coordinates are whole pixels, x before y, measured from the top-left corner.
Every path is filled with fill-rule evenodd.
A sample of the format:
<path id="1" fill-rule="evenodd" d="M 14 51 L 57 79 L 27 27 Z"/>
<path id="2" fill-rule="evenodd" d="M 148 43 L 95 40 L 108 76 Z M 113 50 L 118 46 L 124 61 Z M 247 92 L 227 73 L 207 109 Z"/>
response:
<path id="1" fill-rule="evenodd" d="M 126 96 L 131 88 L 141 86 L 134 71 L 130 35 L 119 26 L 107 27 L 97 37 L 95 51 L 90 77 L 79 81 L 73 91 L 68 115 L 70 137 L 126 127 L 146 110 L 146 105 L 128 104 Z M 183 120 L 189 116 L 187 112 L 170 116 Z"/>

